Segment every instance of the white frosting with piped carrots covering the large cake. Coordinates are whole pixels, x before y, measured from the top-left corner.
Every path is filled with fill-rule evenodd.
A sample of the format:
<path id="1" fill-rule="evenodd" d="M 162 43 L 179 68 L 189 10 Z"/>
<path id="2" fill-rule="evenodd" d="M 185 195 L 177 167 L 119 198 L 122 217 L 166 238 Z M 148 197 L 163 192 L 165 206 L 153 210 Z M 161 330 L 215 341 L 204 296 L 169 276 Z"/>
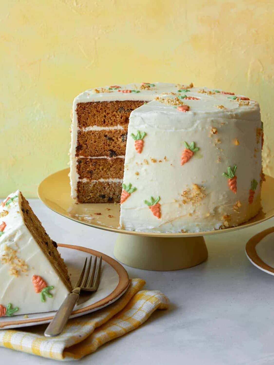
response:
<path id="1" fill-rule="evenodd" d="M 221 89 L 192 86 L 128 84 L 114 90 L 109 86 L 91 89 L 77 96 L 72 120 L 72 196 L 76 197 L 78 181 L 77 103 L 144 100 L 150 102 L 131 112 L 128 125 L 123 188 L 136 189 L 123 191 L 121 228 L 199 232 L 235 226 L 255 216 L 261 207 L 259 104 Z M 138 131 L 145 134 L 143 142 L 137 142 Z M 141 153 L 136 143 L 142 144 Z M 190 157 L 186 146 L 193 147 Z M 250 192 L 252 187 L 254 192 Z M 153 203 L 157 207 L 149 207 Z"/>

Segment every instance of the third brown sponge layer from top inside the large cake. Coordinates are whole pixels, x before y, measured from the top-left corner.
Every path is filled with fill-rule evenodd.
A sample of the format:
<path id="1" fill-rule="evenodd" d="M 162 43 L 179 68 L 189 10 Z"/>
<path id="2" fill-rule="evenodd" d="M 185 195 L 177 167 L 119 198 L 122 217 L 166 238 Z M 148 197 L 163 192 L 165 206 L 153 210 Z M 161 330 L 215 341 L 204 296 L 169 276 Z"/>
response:
<path id="1" fill-rule="evenodd" d="M 92 180 L 118 178 L 124 176 L 124 158 L 78 158 L 77 173 L 80 179 Z"/>

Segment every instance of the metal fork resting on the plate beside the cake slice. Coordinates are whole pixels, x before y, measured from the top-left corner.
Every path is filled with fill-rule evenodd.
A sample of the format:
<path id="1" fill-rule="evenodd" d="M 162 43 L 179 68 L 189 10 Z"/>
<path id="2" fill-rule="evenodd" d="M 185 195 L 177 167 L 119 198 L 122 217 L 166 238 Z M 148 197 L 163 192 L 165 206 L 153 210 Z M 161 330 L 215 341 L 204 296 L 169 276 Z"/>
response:
<path id="1" fill-rule="evenodd" d="M 88 258 L 86 257 L 85 264 L 83 266 L 81 275 L 80 275 L 77 283 L 74 285 L 72 292 L 63 301 L 61 307 L 58 309 L 54 318 L 51 320 L 49 326 L 47 326 L 46 331 L 44 333 L 44 335 L 46 337 L 58 336 L 63 331 L 63 328 L 65 327 L 65 324 L 67 323 L 67 320 L 69 319 L 69 316 L 71 315 L 73 308 L 74 308 L 75 304 L 77 303 L 77 300 L 79 299 L 80 292 L 82 292 L 82 291 L 96 292 L 96 290 L 98 289 L 99 283 L 100 283 L 100 276 L 101 276 L 102 256 L 100 257 L 95 279 L 94 279 L 94 274 L 95 274 L 95 269 L 96 269 L 97 257 L 95 256 L 91 274 L 90 274 L 90 268 L 91 268 L 92 257 L 90 256 L 90 258 L 89 258 L 88 268 L 86 270 L 86 261 L 87 260 L 88 260 Z M 86 273 L 85 273 L 85 271 L 86 271 Z M 84 276 L 84 274 L 85 274 L 85 276 Z M 89 274 L 90 274 L 90 278 L 89 278 Z M 88 278 L 89 278 L 89 280 L 88 280 Z"/>

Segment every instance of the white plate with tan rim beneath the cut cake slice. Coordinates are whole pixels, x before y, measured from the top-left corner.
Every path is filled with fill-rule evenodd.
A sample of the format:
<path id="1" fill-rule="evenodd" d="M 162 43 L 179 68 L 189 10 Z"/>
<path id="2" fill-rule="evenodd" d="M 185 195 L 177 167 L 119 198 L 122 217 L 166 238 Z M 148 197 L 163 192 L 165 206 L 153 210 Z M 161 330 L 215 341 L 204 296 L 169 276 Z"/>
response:
<path id="1" fill-rule="evenodd" d="M 92 295 L 81 295 L 70 318 L 98 311 L 115 302 L 124 294 L 124 292 L 126 292 L 130 283 L 128 274 L 123 266 L 113 258 L 99 251 L 94 251 L 81 246 L 58 244 L 58 250 L 67 265 L 72 285 L 76 283 L 86 257 L 90 257 L 90 255 L 92 255 L 92 257 L 103 257 L 101 280 L 98 290 L 92 293 Z M 56 312 L 45 312 L 0 317 L 0 329 L 49 323 L 55 313 Z"/>

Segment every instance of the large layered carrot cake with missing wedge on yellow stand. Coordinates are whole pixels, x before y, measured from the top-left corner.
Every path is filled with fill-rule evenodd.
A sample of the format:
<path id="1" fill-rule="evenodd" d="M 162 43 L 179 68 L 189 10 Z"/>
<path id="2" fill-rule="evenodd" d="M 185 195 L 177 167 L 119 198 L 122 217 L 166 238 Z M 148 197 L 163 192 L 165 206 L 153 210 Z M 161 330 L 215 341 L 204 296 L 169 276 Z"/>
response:
<path id="1" fill-rule="evenodd" d="M 259 104 L 234 92 L 157 82 L 91 89 L 73 103 L 72 196 L 121 202 L 126 230 L 236 226 L 261 208 L 262 143 Z"/>

